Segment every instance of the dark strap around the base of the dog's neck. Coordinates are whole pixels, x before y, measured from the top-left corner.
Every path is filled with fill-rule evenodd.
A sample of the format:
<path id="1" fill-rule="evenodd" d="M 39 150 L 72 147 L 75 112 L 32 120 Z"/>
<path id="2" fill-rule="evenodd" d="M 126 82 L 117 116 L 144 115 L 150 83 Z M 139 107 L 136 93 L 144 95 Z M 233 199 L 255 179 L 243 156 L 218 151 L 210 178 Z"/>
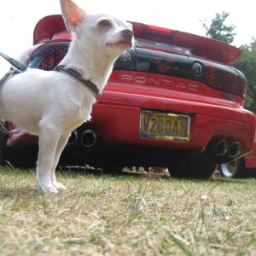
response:
<path id="1" fill-rule="evenodd" d="M 88 80 L 84 79 L 80 73 L 73 70 L 72 68 L 67 68 L 64 65 L 59 65 L 59 66 L 55 67 L 54 71 L 60 71 L 62 73 L 66 73 L 73 79 L 78 80 L 80 83 L 85 85 L 88 89 L 90 89 L 90 91 L 95 96 L 97 96 L 100 93 L 100 90 L 97 88 L 96 84 L 92 83 L 89 79 Z"/>

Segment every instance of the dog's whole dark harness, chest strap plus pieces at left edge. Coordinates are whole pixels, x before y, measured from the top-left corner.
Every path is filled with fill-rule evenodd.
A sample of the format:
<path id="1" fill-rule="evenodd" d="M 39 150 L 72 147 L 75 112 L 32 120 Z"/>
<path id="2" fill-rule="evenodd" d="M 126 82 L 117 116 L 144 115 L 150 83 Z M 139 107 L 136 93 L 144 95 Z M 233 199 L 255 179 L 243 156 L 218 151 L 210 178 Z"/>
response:
<path id="1" fill-rule="evenodd" d="M 10 58 L 8 55 L 4 55 L 1 51 L 0 51 L 0 55 L 6 61 L 9 61 L 9 63 L 13 67 L 16 68 L 16 69 L 14 69 L 12 67 L 9 70 L 9 72 L 3 76 L 3 79 L 0 80 L 0 90 L 1 90 L 1 88 L 3 87 L 3 84 L 5 84 L 7 80 L 11 79 L 12 77 L 14 77 L 15 75 L 17 75 L 19 73 L 25 72 L 28 67 L 21 64 L 19 61 L 16 61 L 15 59 Z M 66 73 L 68 76 L 72 77 L 73 79 L 76 79 L 81 84 L 83 84 L 86 88 L 88 88 L 90 90 L 90 92 L 92 94 L 94 94 L 94 96 L 97 96 L 100 93 L 100 90 L 97 88 L 96 84 L 92 83 L 89 79 L 84 79 L 80 73 L 73 70 L 72 68 L 67 68 L 64 65 L 59 65 L 59 66 L 55 67 L 54 71 Z M 2 131 L 5 134 L 15 134 L 15 133 L 19 132 L 20 129 L 15 129 L 15 130 L 9 131 L 5 128 L 4 121 L 0 119 L 0 131 Z"/>

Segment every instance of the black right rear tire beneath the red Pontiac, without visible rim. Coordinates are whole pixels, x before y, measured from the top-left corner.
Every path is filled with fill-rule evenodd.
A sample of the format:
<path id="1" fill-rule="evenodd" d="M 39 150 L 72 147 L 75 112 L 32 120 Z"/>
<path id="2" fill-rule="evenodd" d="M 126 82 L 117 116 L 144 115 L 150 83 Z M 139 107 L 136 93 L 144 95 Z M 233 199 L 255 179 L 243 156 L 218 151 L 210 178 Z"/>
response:
<path id="1" fill-rule="evenodd" d="M 190 160 L 183 165 L 170 167 L 172 177 L 182 178 L 209 178 L 216 170 L 216 164 L 208 162 L 205 159 Z"/>

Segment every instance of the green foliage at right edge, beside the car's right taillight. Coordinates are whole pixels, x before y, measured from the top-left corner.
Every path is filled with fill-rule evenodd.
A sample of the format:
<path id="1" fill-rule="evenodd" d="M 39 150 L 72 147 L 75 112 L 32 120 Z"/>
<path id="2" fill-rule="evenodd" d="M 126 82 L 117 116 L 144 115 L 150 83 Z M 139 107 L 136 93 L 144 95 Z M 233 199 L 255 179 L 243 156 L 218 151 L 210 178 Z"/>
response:
<path id="1" fill-rule="evenodd" d="M 254 39 L 251 46 L 242 45 L 240 47 L 241 58 L 233 64 L 239 69 L 247 79 L 246 108 L 256 113 L 256 41 Z"/>

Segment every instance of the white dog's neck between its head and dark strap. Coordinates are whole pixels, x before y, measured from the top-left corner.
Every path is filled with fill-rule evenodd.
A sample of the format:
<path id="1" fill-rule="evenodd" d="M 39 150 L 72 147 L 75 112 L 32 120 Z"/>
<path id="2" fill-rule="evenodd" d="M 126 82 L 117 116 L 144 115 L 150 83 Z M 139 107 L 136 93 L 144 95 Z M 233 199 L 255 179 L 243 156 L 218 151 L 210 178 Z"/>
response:
<path id="1" fill-rule="evenodd" d="M 84 52 L 80 49 L 78 42 L 74 39 L 67 51 L 67 55 L 61 61 L 60 65 L 73 68 L 79 72 L 84 79 L 90 79 L 102 91 L 113 69 L 113 63 L 116 60 L 113 56 L 104 55 L 99 50 L 90 50 Z"/>

